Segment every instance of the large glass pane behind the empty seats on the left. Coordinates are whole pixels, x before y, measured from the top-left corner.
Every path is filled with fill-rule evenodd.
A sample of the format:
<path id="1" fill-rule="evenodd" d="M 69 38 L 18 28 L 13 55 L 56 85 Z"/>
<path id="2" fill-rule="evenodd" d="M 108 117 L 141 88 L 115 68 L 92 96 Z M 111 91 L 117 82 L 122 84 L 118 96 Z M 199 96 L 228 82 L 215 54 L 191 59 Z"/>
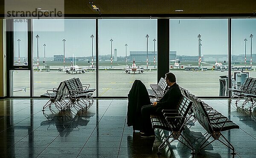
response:
<path id="1" fill-rule="evenodd" d="M 33 20 L 34 96 L 70 78 L 96 88 L 95 28 L 96 20 Z"/>

